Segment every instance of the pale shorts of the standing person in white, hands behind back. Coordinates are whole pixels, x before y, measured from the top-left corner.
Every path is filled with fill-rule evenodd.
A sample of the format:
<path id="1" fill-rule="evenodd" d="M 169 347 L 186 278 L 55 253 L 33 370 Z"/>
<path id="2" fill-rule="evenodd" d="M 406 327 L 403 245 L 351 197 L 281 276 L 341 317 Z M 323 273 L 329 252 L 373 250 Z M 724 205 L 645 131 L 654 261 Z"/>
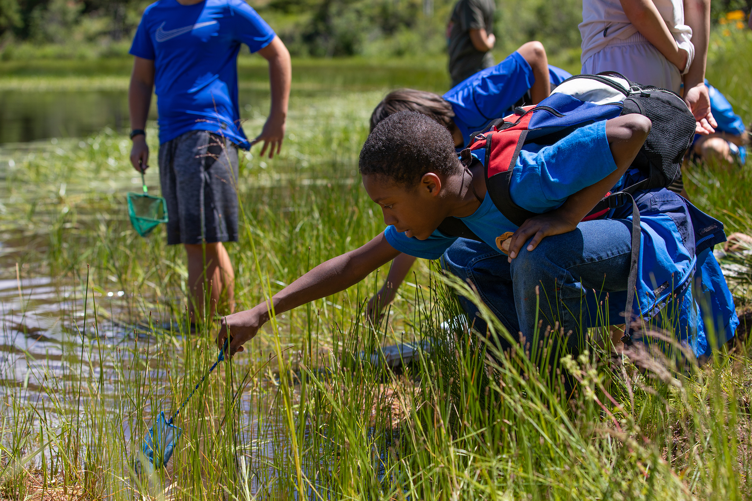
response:
<path id="1" fill-rule="evenodd" d="M 582 65 L 582 72 L 618 71 L 633 82 L 673 90 L 681 95 L 681 73 L 640 33 L 625 40 L 614 38 Z"/>

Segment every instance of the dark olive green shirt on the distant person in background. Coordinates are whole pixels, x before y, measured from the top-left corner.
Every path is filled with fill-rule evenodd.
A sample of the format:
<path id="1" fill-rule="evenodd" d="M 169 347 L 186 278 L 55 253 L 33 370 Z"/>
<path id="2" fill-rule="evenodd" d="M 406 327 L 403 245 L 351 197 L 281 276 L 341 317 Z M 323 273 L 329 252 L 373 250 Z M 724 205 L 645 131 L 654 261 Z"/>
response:
<path id="1" fill-rule="evenodd" d="M 493 55 L 473 47 L 471 29 L 493 33 L 494 0 L 459 0 L 454 5 L 447 32 L 449 34 L 449 74 L 452 87 L 483 68 L 493 66 Z"/>

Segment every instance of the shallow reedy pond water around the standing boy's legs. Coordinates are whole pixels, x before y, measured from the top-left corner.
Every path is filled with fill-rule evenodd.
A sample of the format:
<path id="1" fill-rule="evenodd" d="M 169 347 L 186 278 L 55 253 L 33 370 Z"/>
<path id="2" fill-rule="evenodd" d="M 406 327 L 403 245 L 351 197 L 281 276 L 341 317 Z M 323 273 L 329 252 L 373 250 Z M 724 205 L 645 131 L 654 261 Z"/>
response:
<path id="1" fill-rule="evenodd" d="M 245 74 L 239 93 L 241 117 L 247 120 L 244 129 L 249 136 L 260 130 L 268 111 L 267 83 L 256 77 Z M 274 162 L 260 159 L 258 148 L 247 154 L 243 175 L 253 179 L 243 195 L 253 203 L 264 201 L 271 220 L 274 214 L 299 217 L 297 214 L 305 211 L 313 213 L 314 208 L 325 210 L 329 207 L 326 203 L 350 200 L 346 197 L 351 196 L 356 179 L 356 152 L 373 105 L 391 88 L 441 90 L 444 80 L 441 72 L 404 68 L 300 71 L 298 88 L 293 87 L 291 96 L 284 152 Z M 154 105 L 150 118 L 156 119 Z M 21 418 L 26 412 L 24 405 L 47 412 L 44 420 L 29 414 L 29 427 L 23 430 L 10 433 L 0 428 L 0 441 L 37 433 L 42 423 L 47 427 L 44 433 L 62 433 L 61 426 L 74 422 L 78 426 L 79 418 L 83 430 L 107 414 L 107 426 L 122 444 L 111 448 L 108 460 L 123 459 L 126 451 L 130 454 L 138 449 L 147 424 L 153 422 L 151 414 L 174 411 L 205 375 L 211 357 L 216 360 L 217 348 L 211 339 L 216 332 L 202 336 L 170 333 L 171 327 L 179 328 L 174 325 L 176 319 L 184 316 L 179 308 L 184 307 L 186 295 L 180 278 L 175 278 L 184 271 L 182 249 L 165 248 L 162 241 L 160 255 L 147 256 L 155 262 L 161 260 L 160 269 L 167 270 L 169 276 L 159 275 L 161 272 L 148 275 L 146 266 L 146 276 L 129 271 L 129 263 L 143 260 L 150 244 L 162 237 L 161 232 L 155 232 L 149 241 L 127 236 L 132 231 L 123 199 L 126 192 L 140 189 L 141 183 L 127 164 L 130 141 L 122 134 L 128 130 L 124 89 L 0 92 L 0 398 L 14 405 L 8 405 L 0 419 L 27 422 L 26 417 Z M 146 182 L 150 193 L 156 192 L 157 169 L 149 169 Z M 294 200 L 290 195 L 293 184 L 314 193 L 324 205 L 319 208 L 308 200 Z M 348 203 L 353 204 L 353 211 L 362 213 L 362 204 L 354 205 L 358 200 L 355 197 Z M 247 212 L 253 213 L 253 208 Z M 303 225 L 314 220 L 312 216 L 302 214 L 300 223 L 293 225 L 295 232 L 300 230 L 302 235 L 308 231 L 308 225 Z M 271 232 L 269 235 L 276 238 Z M 335 244 L 327 235 L 314 242 L 314 252 Z M 310 256 L 311 247 L 308 252 Z M 96 274 L 91 280 L 87 278 L 88 263 Z M 127 275 L 127 281 L 119 271 Z M 244 278 L 254 273 L 238 268 L 238 276 Z M 277 280 L 272 287 L 283 285 Z M 328 326 L 332 319 L 342 321 L 337 317 L 344 311 L 341 305 L 324 301 L 323 308 L 320 317 L 315 313 L 322 325 Z M 277 327 L 278 339 L 290 357 L 302 345 L 299 338 L 293 338 L 292 317 L 280 315 Z M 312 320 L 300 317 L 296 317 L 296 328 L 303 322 L 310 325 Z M 325 326 L 317 323 L 316 328 L 326 336 Z M 311 329 L 308 332 L 311 336 Z M 331 338 L 331 332 L 328 335 Z M 297 331 L 295 336 L 299 336 Z M 262 337 L 254 339 L 252 353 L 233 362 L 232 370 L 242 376 L 250 369 L 256 374 L 265 363 L 272 363 L 273 369 L 272 342 Z M 295 350 L 290 350 L 293 345 Z M 202 392 L 222 387 L 230 371 L 227 367 L 229 364 L 220 364 Z M 262 428 L 261 413 L 250 412 L 269 407 L 279 377 L 264 369 L 253 376 L 253 391 L 241 391 L 238 381 L 229 383 L 230 390 L 238 390 L 234 412 L 244 416 L 238 421 L 238 437 L 253 457 L 287 454 L 286 446 L 279 445 L 274 452 L 268 445 L 269 437 L 277 433 L 274 418 L 263 417 L 267 421 Z M 206 390 L 209 387 L 212 389 Z M 129 398 L 123 399 L 124 395 Z M 213 406 L 211 416 L 202 420 L 217 421 L 224 415 L 220 397 L 196 399 Z M 196 416 L 196 402 L 186 408 L 186 414 Z M 214 425 L 217 423 L 212 421 Z M 193 424 L 183 422 L 181 426 L 187 436 Z M 41 437 L 42 432 L 38 433 Z M 206 430 L 201 433 L 210 436 Z M 96 440 L 91 438 L 87 446 L 93 447 Z M 50 457 L 62 451 L 59 445 Z M 65 454 L 73 453 L 78 451 L 65 449 Z M 112 463 L 111 467 L 118 468 Z"/>

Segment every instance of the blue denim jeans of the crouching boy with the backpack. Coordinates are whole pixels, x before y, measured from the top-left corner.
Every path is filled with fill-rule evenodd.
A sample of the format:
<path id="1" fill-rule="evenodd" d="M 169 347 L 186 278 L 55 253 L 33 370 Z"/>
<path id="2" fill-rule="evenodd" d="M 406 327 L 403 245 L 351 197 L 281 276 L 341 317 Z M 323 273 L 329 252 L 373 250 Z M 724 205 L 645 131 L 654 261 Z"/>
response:
<path id="1" fill-rule="evenodd" d="M 584 328 L 624 323 L 631 230 L 629 220 L 584 221 L 572 232 L 544 238 L 535 250 L 525 244 L 511 263 L 487 244 L 459 238 L 444 253 L 442 266 L 471 281 L 509 332 L 526 339 L 535 330 L 539 286 L 541 328 L 559 322 L 565 336 L 574 334 L 567 345 L 576 353 Z M 475 329 L 485 332 L 478 308 L 467 298 L 460 302 Z"/>

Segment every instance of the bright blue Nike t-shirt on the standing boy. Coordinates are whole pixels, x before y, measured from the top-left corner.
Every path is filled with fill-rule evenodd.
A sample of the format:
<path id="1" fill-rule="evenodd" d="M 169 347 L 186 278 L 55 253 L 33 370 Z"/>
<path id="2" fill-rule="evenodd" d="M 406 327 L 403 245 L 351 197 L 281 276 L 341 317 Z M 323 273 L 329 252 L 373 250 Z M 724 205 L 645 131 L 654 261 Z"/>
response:
<path id="1" fill-rule="evenodd" d="M 243 0 L 159 0 L 147 7 L 130 53 L 154 61 L 159 142 L 199 129 L 250 147 L 238 111 L 238 51 L 246 44 L 256 52 L 273 39 Z"/>

